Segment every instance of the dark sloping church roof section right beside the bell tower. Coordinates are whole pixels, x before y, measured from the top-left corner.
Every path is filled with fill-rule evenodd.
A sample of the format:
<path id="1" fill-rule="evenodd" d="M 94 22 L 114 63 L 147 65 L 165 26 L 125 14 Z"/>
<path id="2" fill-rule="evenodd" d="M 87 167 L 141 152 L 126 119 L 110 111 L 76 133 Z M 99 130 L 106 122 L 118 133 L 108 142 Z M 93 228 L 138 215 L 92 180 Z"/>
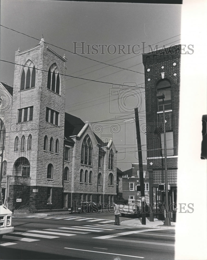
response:
<path id="1" fill-rule="evenodd" d="M 64 136 L 68 139 L 69 136 L 78 135 L 85 123 L 78 117 L 65 113 L 65 128 Z"/>

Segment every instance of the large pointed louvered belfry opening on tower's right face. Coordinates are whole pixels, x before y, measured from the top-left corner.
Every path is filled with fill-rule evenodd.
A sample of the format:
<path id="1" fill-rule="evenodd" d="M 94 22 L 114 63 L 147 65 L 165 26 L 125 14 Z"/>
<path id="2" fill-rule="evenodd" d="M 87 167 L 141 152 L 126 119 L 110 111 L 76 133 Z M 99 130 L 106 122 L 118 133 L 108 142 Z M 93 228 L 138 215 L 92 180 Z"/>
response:
<path id="1" fill-rule="evenodd" d="M 53 63 L 48 70 L 47 88 L 60 94 L 60 75 L 56 63 Z"/>

